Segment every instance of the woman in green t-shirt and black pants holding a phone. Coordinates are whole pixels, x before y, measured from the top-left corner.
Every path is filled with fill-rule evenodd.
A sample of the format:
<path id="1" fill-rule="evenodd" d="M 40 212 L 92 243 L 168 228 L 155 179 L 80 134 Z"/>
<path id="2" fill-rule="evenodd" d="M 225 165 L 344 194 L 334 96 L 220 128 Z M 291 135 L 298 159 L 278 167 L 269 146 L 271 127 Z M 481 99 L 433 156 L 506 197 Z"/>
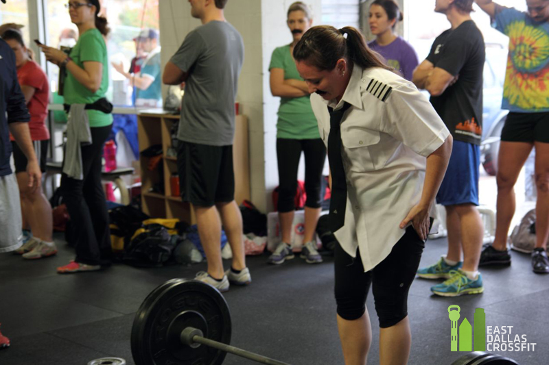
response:
<path id="1" fill-rule="evenodd" d="M 60 189 L 71 221 L 78 227 L 78 239 L 75 260 L 57 271 L 80 273 L 100 270 L 110 264 L 111 257 L 108 213 L 101 184 L 103 145 L 113 124 L 112 104 L 105 98 L 108 55 L 104 36 L 110 29 L 106 18 L 98 15 L 99 0 L 70 0 L 67 8 L 80 34 L 70 55 L 52 47 L 40 46 L 40 49 L 49 62 L 67 72 L 65 103 L 70 113 Z"/>

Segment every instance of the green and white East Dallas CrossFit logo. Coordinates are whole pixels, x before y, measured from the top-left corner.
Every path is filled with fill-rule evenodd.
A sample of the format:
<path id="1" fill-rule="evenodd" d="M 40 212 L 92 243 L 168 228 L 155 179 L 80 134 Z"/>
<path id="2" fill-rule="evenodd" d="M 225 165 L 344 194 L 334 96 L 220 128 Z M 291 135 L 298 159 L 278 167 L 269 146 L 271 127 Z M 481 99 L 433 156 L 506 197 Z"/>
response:
<path id="1" fill-rule="evenodd" d="M 448 307 L 450 319 L 450 351 L 535 351 L 535 343 L 528 342 L 526 335 L 513 333 L 513 326 L 487 326 L 484 308 L 476 308 L 474 331 L 467 318 L 459 326 L 459 305 Z M 474 341 L 473 341 L 474 340 Z M 473 350 L 474 344 L 474 350 Z"/>

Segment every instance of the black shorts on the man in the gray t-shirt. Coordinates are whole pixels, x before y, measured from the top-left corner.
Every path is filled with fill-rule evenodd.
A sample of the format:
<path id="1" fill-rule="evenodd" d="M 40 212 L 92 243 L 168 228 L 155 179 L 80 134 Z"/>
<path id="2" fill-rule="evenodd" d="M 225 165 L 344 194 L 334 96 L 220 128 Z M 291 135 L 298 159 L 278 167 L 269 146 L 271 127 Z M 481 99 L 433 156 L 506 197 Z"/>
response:
<path id="1" fill-rule="evenodd" d="M 180 142 L 177 171 L 183 201 L 198 207 L 211 207 L 235 199 L 232 145 Z"/>

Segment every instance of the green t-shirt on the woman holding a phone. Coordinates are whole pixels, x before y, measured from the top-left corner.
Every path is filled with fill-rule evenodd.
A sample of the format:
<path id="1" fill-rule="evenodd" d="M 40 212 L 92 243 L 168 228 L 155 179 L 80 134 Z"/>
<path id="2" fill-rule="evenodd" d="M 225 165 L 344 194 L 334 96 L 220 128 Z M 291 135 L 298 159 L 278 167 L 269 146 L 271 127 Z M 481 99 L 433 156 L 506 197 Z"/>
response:
<path id="1" fill-rule="evenodd" d="M 105 97 L 108 89 L 108 57 L 107 47 L 102 34 L 97 29 L 89 29 L 80 36 L 78 42 L 71 51 L 73 62 L 80 68 L 84 68 L 84 62 L 95 61 L 103 64 L 103 76 L 101 86 L 96 92 L 91 92 L 80 84 L 74 76 L 67 71 L 65 79 L 65 103 L 67 104 L 91 104 Z M 90 127 L 105 127 L 113 123 L 112 114 L 105 114 L 99 110 L 86 110 Z"/>

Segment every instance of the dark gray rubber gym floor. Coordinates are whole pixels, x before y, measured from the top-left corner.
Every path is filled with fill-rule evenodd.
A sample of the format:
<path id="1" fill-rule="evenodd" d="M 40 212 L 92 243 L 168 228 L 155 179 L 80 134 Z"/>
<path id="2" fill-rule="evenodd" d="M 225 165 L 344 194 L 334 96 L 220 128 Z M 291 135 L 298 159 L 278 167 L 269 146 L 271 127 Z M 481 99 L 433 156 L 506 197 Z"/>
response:
<path id="1" fill-rule="evenodd" d="M 138 269 L 117 264 L 108 270 L 58 275 L 56 266 L 73 257 L 56 236 L 55 257 L 25 261 L 0 255 L 1 331 L 12 342 L 0 351 L 1 365 L 85 365 L 99 357 L 122 357 L 134 364 L 130 331 L 135 312 L 149 292 L 167 279 L 193 277 L 205 264 Z M 430 240 L 422 266 L 445 253 L 445 239 Z M 521 365 L 546 365 L 549 359 L 549 276 L 535 275 L 529 255 L 513 252 L 510 268 L 482 268 L 485 291 L 458 298 L 434 297 L 433 281 L 416 279 L 408 312 L 412 326 L 409 364 L 449 365 L 460 353 L 449 351 L 447 307 L 461 307 L 473 324 L 484 308 L 488 326 L 513 326 L 535 351 L 500 353 Z M 281 266 L 267 256 L 248 257 L 253 283 L 224 294 L 233 320 L 231 344 L 293 365 L 343 364 L 333 298 L 333 260 L 309 265 L 299 258 Z M 368 364 L 379 364 L 377 316 L 371 294 L 373 342 Z M 514 336 L 513 336 L 514 337 Z M 497 352 L 497 351 L 496 351 Z M 545 359 L 545 360 L 544 360 Z M 255 364 L 227 355 L 224 364 Z"/>

